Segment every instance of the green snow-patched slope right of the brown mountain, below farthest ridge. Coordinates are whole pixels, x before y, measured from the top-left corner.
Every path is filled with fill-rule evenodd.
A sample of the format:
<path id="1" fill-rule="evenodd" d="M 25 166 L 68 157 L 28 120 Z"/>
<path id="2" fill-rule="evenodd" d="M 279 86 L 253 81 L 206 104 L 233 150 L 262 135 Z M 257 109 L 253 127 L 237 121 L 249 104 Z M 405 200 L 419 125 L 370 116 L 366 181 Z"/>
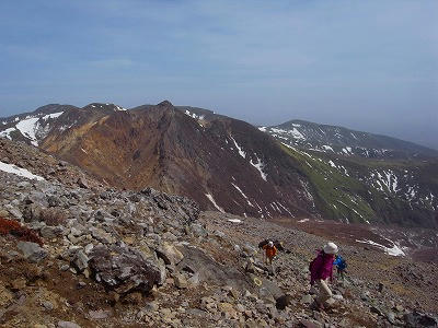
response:
<path id="1" fill-rule="evenodd" d="M 419 198 L 416 200 L 406 199 L 406 190 L 414 192 L 414 189 L 408 189 L 402 180 L 402 177 L 408 177 L 407 173 L 415 171 L 416 178 L 423 183 L 427 180 L 427 190 L 438 192 L 436 180 L 427 178 L 427 172 L 431 171 L 428 165 L 407 161 L 339 159 L 286 145 L 283 149 L 310 181 L 315 206 L 324 219 L 436 226 L 433 201 L 425 202 L 427 196 L 424 195 L 426 198 L 423 199 L 422 195 L 416 195 Z M 392 178 L 388 178 L 388 185 L 377 178 L 385 174 Z M 397 186 L 397 181 L 403 186 Z"/>

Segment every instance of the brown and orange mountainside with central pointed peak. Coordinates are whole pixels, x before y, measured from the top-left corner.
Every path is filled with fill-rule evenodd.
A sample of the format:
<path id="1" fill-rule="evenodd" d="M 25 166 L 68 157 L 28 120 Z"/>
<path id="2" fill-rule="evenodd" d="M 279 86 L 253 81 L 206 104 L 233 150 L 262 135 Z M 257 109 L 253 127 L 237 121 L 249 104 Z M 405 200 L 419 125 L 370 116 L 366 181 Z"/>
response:
<path id="1" fill-rule="evenodd" d="M 71 127 L 51 129 L 41 148 L 113 186 L 151 186 L 204 209 L 264 218 L 314 212 L 292 159 L 246 122 L 196 119 L 169 102 L 128 112 L 90 106 L 59 117 Z"/>

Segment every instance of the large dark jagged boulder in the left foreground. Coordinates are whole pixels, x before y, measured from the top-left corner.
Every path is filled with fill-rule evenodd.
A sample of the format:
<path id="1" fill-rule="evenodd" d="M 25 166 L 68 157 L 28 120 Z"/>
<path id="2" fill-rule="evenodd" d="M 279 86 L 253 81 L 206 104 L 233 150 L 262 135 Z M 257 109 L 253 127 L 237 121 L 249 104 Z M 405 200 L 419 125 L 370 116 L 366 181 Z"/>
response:
<path id="1" fill-rule="evenodd" d="M 97 282 L 120 295 L 134 291 L 147 293 L 162 280 L 159 265 L 128 246 L 97 245 L 90 253 L 89 266 Z"/>

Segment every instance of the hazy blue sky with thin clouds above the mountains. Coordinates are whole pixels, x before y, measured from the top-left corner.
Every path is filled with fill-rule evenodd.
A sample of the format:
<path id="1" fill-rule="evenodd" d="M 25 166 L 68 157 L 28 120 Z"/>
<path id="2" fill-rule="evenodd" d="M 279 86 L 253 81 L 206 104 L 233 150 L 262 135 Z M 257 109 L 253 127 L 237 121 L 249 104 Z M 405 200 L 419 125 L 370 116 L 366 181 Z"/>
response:
<path id="1" fill-rule="evenodd" d="M 436 0 L 1 0 L 0 116 L 169 99 L 438 149 L 437 13 Z"/>

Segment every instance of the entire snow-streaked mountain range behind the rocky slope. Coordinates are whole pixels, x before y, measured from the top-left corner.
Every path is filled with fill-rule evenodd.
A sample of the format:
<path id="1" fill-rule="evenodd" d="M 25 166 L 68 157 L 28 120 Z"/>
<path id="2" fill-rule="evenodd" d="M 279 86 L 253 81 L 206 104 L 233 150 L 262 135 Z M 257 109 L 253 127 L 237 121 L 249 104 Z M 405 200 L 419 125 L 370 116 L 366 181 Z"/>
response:
<path id="1" fill-rule="evenodd" d="M 31 143 L 115 187 L 151 186 L 203 209 L 260 218 L 438 225 L 438 151 L 291 120 L 253 127 L 169 102 L 47 105 L 0 119 Z"/>

